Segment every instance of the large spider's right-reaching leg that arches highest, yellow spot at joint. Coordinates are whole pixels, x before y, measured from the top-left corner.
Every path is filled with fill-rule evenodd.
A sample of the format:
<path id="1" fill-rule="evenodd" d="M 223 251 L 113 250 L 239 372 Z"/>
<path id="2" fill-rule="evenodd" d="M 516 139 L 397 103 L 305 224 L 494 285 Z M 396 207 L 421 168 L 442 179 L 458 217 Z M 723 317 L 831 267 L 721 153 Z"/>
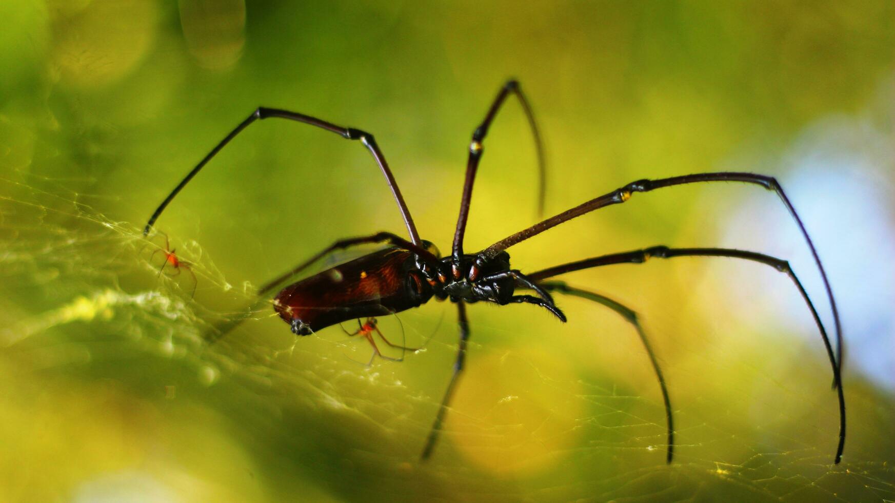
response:
<path id="1" fill-rule="evenodd" d="M 827 279 L 827 273 L 823 269 L 821 258 L 817 254 L 817 250 L 814 248 L 814 243 L 811 241 L 811 237 L 808 236 L 808 231 L 805 229 L 805 225 L 802 224 L 802 219 L 798 217 L 796 209 L 793 207 L 792 203 L 789 202 L 789 198 L 787 197 L 786 192 L 783 192 L 783 187 L 781 187 L 780 183 L 777 182 L 777 179 L 773 178 L 772 176 L 755 175 L 753 173 L 723 172 L 672 176 L 670 178 L 660 178 L 658 180 L 637 180 L 636 182 L 628 183 L 624 187 L 616 189 L 615 191 L 603 194 L 600 197 L 594 198 L 592 200 L 588 200 L 573 209 L 568 209 L 554 217 L 547 218 L 546 220 L 530 226 L 527 229 L 523 229 L 516 234 L 507 236 L 506 238 L 490 245 L 488 248 L 480 252 L 479 257 L 476 260 L 476 264 L 481 267 L 484 262 L 493 259 L 499 252 L 506 250 L 510 246 L 513 246 L 517 243 L 522 243 L 526 239 L 529 239 L 537 234 L 541 234 L 547 229 L 558 226 L 559 224 L 567 222 L 572 218 L 580 217 L 585 213 L 590 213 L 591 211 L 594 211 L 596 209 L 605 208 L 613 204 L 620 204 L 622 202 L 625 202 L 626 200 L 630 200 L 631 195 L 634 192 L 651 192 L 656 189 L 662 189 L 674 185 L 706 182 L 754 183 L 769 191 L 775 192 L 780 200 L 783 202 L 783 205 L 788 210 L 789 215 L 793 218 L 793 220 L 795 220 L 798 226 L 798 230 L 805 238 L 805 243 L 807 243 L 808 249 L 811 250 L 811 254 L 814 257 L 814 263 L 817 265 L 817 269 L 821 273 L 821 278 L 823 279 L 823 288 L 826 290 L 827 298 L 830 300 L 830 308 L 833 315 L 833 324 L 836 328 L 836 354 L 834 359 L 841 372 L 842 328 L 839 319 L 839 311 L 836 308 L 836 301 L 833 298 L 833 291 L 830 286 L 830 281 Z M 836 383 L 833 383 L 833 385 L 835 386 Z"/>

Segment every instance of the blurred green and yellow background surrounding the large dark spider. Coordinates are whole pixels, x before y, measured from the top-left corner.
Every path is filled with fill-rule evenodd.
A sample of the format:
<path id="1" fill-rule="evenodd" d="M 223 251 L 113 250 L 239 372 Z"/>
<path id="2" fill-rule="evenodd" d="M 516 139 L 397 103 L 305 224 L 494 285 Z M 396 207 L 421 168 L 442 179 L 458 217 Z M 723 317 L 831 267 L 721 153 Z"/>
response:
<path id="1" fill-rule="evenodd" d="M 0 14 L 0 499 L 895 499 L 891 2 L 7 0 Z M 468 371 L 427 464 L 452 306 L 382 320 L 425 345 L 400 363 L 365 367 L 369 345 L 338 328 L 295 340 L 266 306 L 203 342 L 333 240 L 403 233 L 361 146 L 265 121 L 158 220 L 192 264 L 159 275 L 146 218 L 251 110 L 376 134 L 447 252 L 470 134 L 509 77 L 541 124 L 550 214 L 643 177 L 780 178 L 840 301 L 841 465 L 820 337 L 788 279 L 754 264 L 565 278 L 640 312 L 676 413 L 672 465 L 635 333 L 584 301 L 560 299 L 565 325 L 469 309 Z M 537 217 L 516 103 L 486 149 L 467 251 Z M 797 228 L 754 187 L 637 196 L 510 252 L 533 271 L 660 243 L 790 259 L 831 318 Z"/>

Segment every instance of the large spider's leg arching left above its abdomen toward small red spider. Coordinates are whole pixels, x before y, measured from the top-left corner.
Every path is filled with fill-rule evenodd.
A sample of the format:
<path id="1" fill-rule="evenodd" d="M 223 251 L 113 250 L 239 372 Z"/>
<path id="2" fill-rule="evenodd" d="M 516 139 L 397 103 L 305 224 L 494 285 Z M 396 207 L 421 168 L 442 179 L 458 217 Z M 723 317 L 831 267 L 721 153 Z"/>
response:
<path id="1" fill-rule="evenodd" d="M 152 228 L 153 224 L 155 224 L 158 217 L 161 215 L 162 211 L 165 210 L 167 205 L 174 200 L 175 196 L 178 192 L 180 192 L 183 187 L 192 180 L 192 177 L 197 175 L 202 169 L 203 166 L 209 163 L 211 158 L 214 158 L 221 149 L 223 149 L 227 143 L 233 140 L 236 135 L 243 131 L 249 124 L 259 120 L 259 119 L 267 119 L 268 117 L 277 117 L 280 119 L 287 119 L 290 121 L 295 121 L 303 124 L 309 124 L 315 127 L 319 127 L 320 129 L 324 129 L 328 132 L 335 132 L 345 140 L 359 140 L 370 150 L 371 156 L 373 160 L 376 161 L 376 164 L 379 166 L 379 169 L 382 171 L 382 175 L 386 178 L 386 183 L 388 183 L 388 188 L 391 190 L 392 195 L 395 197 L 395 202 L 397 203 L 398 210 L 401 212 L 401 217 L 404 218 L 405 226 L 407 227 L 407 234 L 410 235 L 410 241 L 413 244 L 420 245 L 422 242 L 420 241 L 420 234 L 416 231 L 416 226 L 413 224 L 413 217 L 410 215 L 410 210 L 407 209 L 407 205 L 404 201 L 404 197 L 401 195 L 401 191 L 398 189 L 397 183 L 395 181 L 395 176 L 392 175 L 391 170 L 388 168 L 388 162 L 386 162 L 385 156 L 382 155 L 382 151 L 379 149 L 379 145 L 376 144 L 376 140 L 373 138 L 373 135 L 369 132 L 363 132 L 359 129 L 354 128 L 345 128 L 342 126 L 338 126 L 336 124 L 328 123 L 327 121 L 320 120 L 316 117 L 311 117 L 311 115 L 303 115 L 295 112 L 290 112 L 288 110 L 279 110 L 277 108 L 265 108 L 258 107 L 254 112 L 251 113 L 248 117 L 246 117 L 242 123 L 237 125 L 233 131 L 224 137 L 224 140 L 217 143 L 214 149 L 199 161 L 199 164 L 192 168 L 192 171 L 188 173 L 180 183 L 177 183 L 177 186 L 171 193 L 167 195 L 165 200 L 162 201 L 158 208 L 152 213 L 152 216 L 149 217 L 149 221 L 146 223 L 146 227 L 143 228 L 143 235 L 149 234 L 149 229 Z"/>

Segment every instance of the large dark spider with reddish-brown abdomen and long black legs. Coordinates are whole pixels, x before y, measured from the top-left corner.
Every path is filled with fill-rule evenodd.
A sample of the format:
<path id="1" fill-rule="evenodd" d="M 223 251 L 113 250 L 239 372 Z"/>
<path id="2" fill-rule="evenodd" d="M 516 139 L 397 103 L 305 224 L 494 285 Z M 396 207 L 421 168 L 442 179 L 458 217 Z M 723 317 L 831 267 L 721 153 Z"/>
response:
<path id="1" fill-rule="evenodd" d="M 428 459 L 434 451 L 439 440 L 439 433 L 449 408 L 451 397 L 453 396 L 459 378 L 464 371 L 466 347 L 470 337 L 470 323 L 466 315 L 466 304 L 478 302 L 496 303 L 499 305 L 506 305 L 509 303 L 533 304 L 534 306 L 549 311 L 553 316 L 558 318 L 558 320 L 565 322 L 566 314 L 557 307 L 551 296 L 551 293 L 558 293 L 574 295 L 594 303 L 599 303 L 609 308 L 609 310 L 617 312 L 630 323 L 633 328 L 635 328 L 638 337 L 640 337 L 641 342 L 644 345 L 646 353 L 649 355 L 652 369 L 659 382 L 662 399 L 665 405 L 667 424 L 668 448 L 666 451 L 666 462 L 671 463 L 674 457 L 675 430 L 674 418 L 671 413 L 672 408 L 669 391 L 662 375 L 659 361 L 652 351 L 652 346 L 644 333 L 644 329 L 638 321 L 635 311 L 622 303 L 618 303 L 609 297 L 597 294 L 590 290 L 568 286 L 561 281 L 548 280 L 552 277 L 583 269 L 625 263 L 641 264 L 652 258 L 728 257 L 764 264 L 787 274 L 792 280 L 799 294 L 802 295 L 808 310 L 811 311 L 814 323 L 823 339 L 823 345 L 826 349 L 832 368 L 833 388 L 836 390 L 839 399 L 840 431 L 834 463 L 840 463 L 842 450 L 845 446 L 846 415 L 845 397 L 842 391 L 840 377 L 842 366 L 842 336 L 839 313 L 836 308 L 836 302 L 833 298 L 830 283 L 823 270 L 820 257 L 814 249 L 814 243 L 812 243 L 811 238 L 808 236 L 805 226 L 797 215 L 796 209 L 793 208 L 786 193 L 783 192 L 780 183 L 771 176 L 737 172 L 697 173 L 694 175 L 672 176 L 655 180 L 637 180 L 632 183 L 627 183 L 614 191 L 602 194 L 592 200 L 584 201 L 578 206 L 567 209 L 553 217 L 541 220 L 533 226 L 525 228 L 491 244 L 480 252 L 467 253 L 464 251 L 463 247 L 464 234 L 466 220 L 469 217 L 470 200 L 473 193 L 475 174 L 484 152 L 483 141 L 488 134 L 491 122 L 510 96 L 515 96 L 521 104 L 533 132 L 533 140 L 537 149 L 538 166 L 540 168 L 539 175 L 541 180 L 539 208 L 543 208 L 545 168 L 544 156 L 542 153 L 543 149 L 541 147 L 541 135 L 538 131 L 537 124 L 534 121 L 532 107 L 530 106 L 528 99 L 525 98 L 518 82 L 510 80 L 500 88 L 497 97 L 491 102 L 490 108 L 482 120 L 482 123 L 473 132 L 472 141 L 470 142 L 468 149 L 465 183 L 463 186 L 463 195 L 460 200 L 460 211 L 457 217 L 453 246 L 451 248 L 451 253 L 446 257 L 442 258 L 439 255 L 438 249 L 435 248 L 432 243 L 423 241 L 420 238 L 420 234 L 416 230 L 416 226 L 413 223 L 413 217 L 410 215 L 410 210 L 407 209 L 407 205 L 405 204 L 404 197 L 401 195 L 395 177 L 392 175 L 391 169 L 389 169 L 388 163 L 386 162 L 386 158 L 382 154 L 379 145 L 371 133 L 360 129 L 345 128 L 337 124 L 331 124 L 309 115 L 266 107 L 259 107 L 254 110 L 251 115 L 237 125 L 232 132 L 227 134 L 222 141 L 218 142 L 217 146 L 215 146 L 214 149 L 211 149 L 205 158 L 200 160 L 198 165 L 192 168 L 192 171 L 190 171 L 183 180 L 175 186 L 175 189 L 167 195 L 165 200 L 158 206 L 158 209 L 156 209 L 152 216 L 149 217 L 149 221 L 143 230 L 143 234 L 145 235 L 149 233 L 149 230 L 155 224 L 162 211 L 167 207 L 171 200 L 175 198 L 177 193 L 180 192 L 197 173 L 199 173 L 200 169 L 205 166 L 209 160 L 220 151 L 220 149 L 223 149 L 227 143 L 232 141 L 236 135 L 257 120 L 275 117 L 286 119 L 298 123 L 309 124 L 328 132 L 334 132 L 346 140 L 360 141 L 363 147 L 370 151 L 373 160 L 377 166 L 379 166 L 382 175 L 385 176 L 388 188 L 396 201 L 401 216 L 403 217 L 409 239 L 405 239 L 389 232 L 379 232 L 376 234 L 338 240 L 336 243 L 329 245 L 321 252 L 312 256 L 311 259 L 304 261 L 296 268 L 286 272 L 286 274 L 261 286 L 258 294 L 260 295 L 260 298 L 265 298 L 268 294 L 274 293 L 275 288 L 280 286 L 278 293 L 274 296 L 272 301 L 274 310 L 280 318 L 289 324 L 296 336 L 308 336 L 322 328 L 335 325 L 345 320 L 367 318 L 367 325 L 362 325 L 361 329 L 358 332 L 355 332 L 355 334 L 367 337 L 371 343 L 371 331 L 375 330 L 375 324 L 371 325 L 369 320 L 373 317 L 405 311 L 420 306 L 423 303 L 427 303 L 433 297 L 439 300 L 449 299 L 452 303 L 456 304 L 457 326 L 459 328 L 456 362 L 454 364 L 454 371 L 447 383 L 447 390 L 439 405 L 438 413 L 436 413 L 434 422 L 432 423 L 429 436 L 422 448 L 422 460 Z M 814 303 L 812 303 L 793 269 L 789 267 L 788 262 L 763 253 L 727 248 L 670 248 L 668 246 L 652 246 L 642 250 L 618 252 L 578 260 L 530 273 L 523 273 L 519 269 L 513 269 L 510 266 L 510 257 L 507 253 L 507 248 L 517 243 L 522 243 L 527 239 L 531 239 L 552 227 L 564 224 L 572 218 L 580 217 L 586 213 L 607 206 L 624 203 L 627 200 L 630 200 L 636 193 L 652 192 L 675 185 L 689 183 L 717 182 L 739 182 L 758 185 L 763 189 L 775 192 L 786 209 L 788 209 L 790 216 L 793 218 L 799 231 L 805 238 L 805 243 L 811 250 L 814 262 L 823 278 L 823 286 L 831 304 L 832 317 L 835 325 L 835 350 L 831 344 L 830 337 L 827 336 L 823 322 L 816 309 L 814 309 Z M 301 281 L 282 287 L 287 279 L 295 277 L 311 266 L 311 264 L 329 256 L 332 252 L 369 243 L 387 243 L 388 246 L 377 252 L 371 252 L 358 259 L 345 262 L 344 264 L 324 270 L 311 277 L 305 277 Z M 170 257 L 171 255 L 169 255 L 169 258 Z M 180 264 L 183 265 L 183 262 L 181 261 Z M 518 294 L 516 292 L 517 289 L 527 291 L 528 293 Z M 379 353 L 375 344 L 373 346 L 376 353 Z"/>

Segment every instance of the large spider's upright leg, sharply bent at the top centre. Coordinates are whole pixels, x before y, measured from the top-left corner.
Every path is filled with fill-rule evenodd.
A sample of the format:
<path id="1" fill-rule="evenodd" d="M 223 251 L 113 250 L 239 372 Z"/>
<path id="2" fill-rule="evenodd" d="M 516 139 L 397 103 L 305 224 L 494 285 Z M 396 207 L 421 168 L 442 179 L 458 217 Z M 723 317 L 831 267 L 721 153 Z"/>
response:
<path id="1" fill-rule="evenodd" d="M 484 152 L 482 141 L 484 141 L 485 136 L 488 135 L 491 121 L 498 115 L 500 107 L 503 106 L 507 96 L 510 94 L 515 94 L 516 98 L 519 98 L 519 103 L 522 104 L 525 117 L 528 119 L 528 124 L 532 127 L 534 147 L 538 153 L 538 175 L 540 185 L 538 191 L 538 216 L 541 217 L 544 213 L 544 194 L 546 193 L 545 183 L 547 180 L 547 173 L 546 168 L 544 167 L 544 148 L 541 143 L 541 133 L 538 132 L 538 124 L 534 122 L 532 107 L 528 103 L 528 99 L 525 98 L 522 90 L 519 88 L 519 82 L 510 80 L 500 88 L 498 95 L 491 103 L 491 107 L 488 109 L 488 114 L 485 115 L 482 124 L 479 124 L 479 127 L 475 128 L 475 131 L 473 132 L 473 141 L 469 144 L 469 158 L 466 161 L 466 179 L 463 184 L 463 198 L 460 200 L 460 214 L 456 218 L 456 231 L 454 233 L 454 247 L 452 253 L 454 257 L 453 272 L 456 279 L 459 279 L 462 274 L 459 268 L 460 257 L 463 256 L 463 237 L 466 232 L 466 220 L 469 217 L 470 200 L 472 200 L 473 197 L 475 172 L 479 168 L 479 160 L 482 159 L 482 153 Z"/>

